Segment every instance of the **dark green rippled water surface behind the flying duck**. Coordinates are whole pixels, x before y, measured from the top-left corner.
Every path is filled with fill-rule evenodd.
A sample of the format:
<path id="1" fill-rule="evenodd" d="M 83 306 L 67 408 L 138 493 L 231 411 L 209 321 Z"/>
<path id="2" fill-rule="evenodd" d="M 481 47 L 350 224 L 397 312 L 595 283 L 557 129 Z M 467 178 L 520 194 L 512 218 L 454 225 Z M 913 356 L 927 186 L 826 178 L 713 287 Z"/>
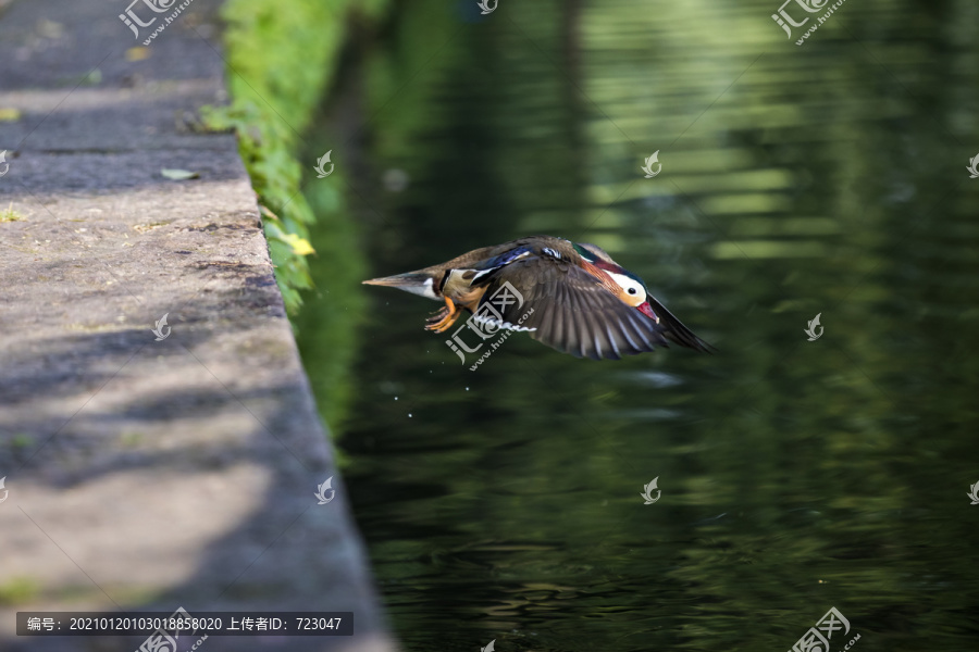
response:
<path id="1" fill-rule="evenodd" d="M 473 373 L 435 303 L 351 299 L 339 446 L 406 647 L 785 650 L 831 606 L 858 650 L 974 645 L 979 7 L 847 2 L 797 47 L 778 1 L 469 4 L 352 64 L 362 277 L 591 241 L 719 353 L 515 336 Z"/>

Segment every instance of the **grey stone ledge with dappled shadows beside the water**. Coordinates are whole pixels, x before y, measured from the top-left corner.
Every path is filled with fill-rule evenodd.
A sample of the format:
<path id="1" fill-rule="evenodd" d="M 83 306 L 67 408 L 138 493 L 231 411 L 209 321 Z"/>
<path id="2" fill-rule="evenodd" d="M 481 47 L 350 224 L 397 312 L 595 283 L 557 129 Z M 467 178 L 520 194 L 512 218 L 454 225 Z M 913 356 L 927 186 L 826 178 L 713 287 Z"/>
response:
<path id="1" fill-rule="evenodd" d="M 0 123 L 0 210 L 24 217 L 0 222 L 0 649 L 142 640 L 17 638 L 16 611 L 183 606 L 355 612 L 352 638 L 206 651 L 393 650 L 235 139 L 177 127 L 224 98 L 200 36 L 216 3 L 195 0 L 139 62 L 126 4 L 0 16 L 0 109 L 23 112 Z M 97 86 L 64 84 L 96 65 Z"/>

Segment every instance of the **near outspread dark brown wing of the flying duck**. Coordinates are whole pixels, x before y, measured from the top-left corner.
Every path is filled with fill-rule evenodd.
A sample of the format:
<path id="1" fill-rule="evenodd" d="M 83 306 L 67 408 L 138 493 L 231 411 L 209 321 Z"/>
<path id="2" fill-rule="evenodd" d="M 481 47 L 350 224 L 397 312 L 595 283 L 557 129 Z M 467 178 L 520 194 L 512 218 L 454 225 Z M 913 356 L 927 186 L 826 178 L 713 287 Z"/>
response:
<path id="1" fill-rule="evenodd" d="M 507 283 L 520 292 L 522 303 L 494 300 Z M 669 346 L 664 326 L 567 261 L 529 256 L 493 271 L 478 284 L 486 286 L 480 314 L 491 314 L 483 310 L 490 303 L 501 314 L 504 327 L 533 329 L 534 339 L 577 358 L 619 360 Z"/>

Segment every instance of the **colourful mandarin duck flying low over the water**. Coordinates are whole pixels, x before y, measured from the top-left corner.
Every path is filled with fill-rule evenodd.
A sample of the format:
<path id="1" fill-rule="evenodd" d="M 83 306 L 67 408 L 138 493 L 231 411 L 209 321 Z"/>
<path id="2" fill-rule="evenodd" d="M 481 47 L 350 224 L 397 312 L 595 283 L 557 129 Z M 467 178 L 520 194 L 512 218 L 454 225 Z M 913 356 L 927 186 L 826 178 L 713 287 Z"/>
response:
<path id="1" fill-rule="evenodd" d="M 436 333 L 451 327 L 464 309 L 484 326 L 529 331 L 575 358 L 619 360 L 668 342 L 714 350 L 605 250 L 552 236 L 484 247 L 363 283 L 445 301 L 425 326 Z"/>

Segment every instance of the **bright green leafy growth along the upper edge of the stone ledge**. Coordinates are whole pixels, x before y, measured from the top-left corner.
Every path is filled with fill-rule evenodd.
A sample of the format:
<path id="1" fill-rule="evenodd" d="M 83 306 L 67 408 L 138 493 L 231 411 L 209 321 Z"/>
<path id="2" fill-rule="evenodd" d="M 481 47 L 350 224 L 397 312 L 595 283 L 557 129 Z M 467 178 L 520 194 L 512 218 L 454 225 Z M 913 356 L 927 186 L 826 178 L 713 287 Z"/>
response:
<path id="1" fill-rule="evenodd" d="M 334 77 L 347 16 L 376 16 L 387 0 L 228 0 L 222 16 L 227 106 L 201 111 L 211 129 L 235 129 L 239 150 L 263 206 L 262 220 L 275 278 L 290 315 L 312 288 L 306 256 L 315 221 L 300 188 L 297 160 L 312 116 Z"/>

